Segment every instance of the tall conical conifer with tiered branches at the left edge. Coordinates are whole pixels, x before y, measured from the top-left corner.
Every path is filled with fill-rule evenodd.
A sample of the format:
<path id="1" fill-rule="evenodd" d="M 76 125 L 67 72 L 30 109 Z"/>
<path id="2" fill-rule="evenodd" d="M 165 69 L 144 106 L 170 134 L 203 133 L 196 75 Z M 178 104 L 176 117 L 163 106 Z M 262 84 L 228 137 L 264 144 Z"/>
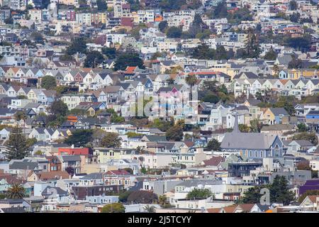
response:
<path id="1" fill-rule="evenodd" d="M 21 160 L 28 155 L 26 136 L 22 134 L 21 128 L 12 128 L 9 139 L 6 141 L 7 151 L 4 152 L 6 160 Z"/>

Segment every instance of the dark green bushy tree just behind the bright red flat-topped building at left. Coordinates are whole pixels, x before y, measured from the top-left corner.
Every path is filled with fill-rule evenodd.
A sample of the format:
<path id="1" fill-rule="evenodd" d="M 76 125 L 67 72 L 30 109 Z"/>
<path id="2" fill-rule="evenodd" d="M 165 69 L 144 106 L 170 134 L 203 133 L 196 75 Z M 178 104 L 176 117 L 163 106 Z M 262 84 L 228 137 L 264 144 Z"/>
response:
<path id="1" fill-rule="evenodd" d="M 77 148 L 84 147 L 87 143 L 91 142 L 92 134 L 91 129 L 77 129 L 72 135 L 69 135 L 65 143 L 74 145 Z"/>

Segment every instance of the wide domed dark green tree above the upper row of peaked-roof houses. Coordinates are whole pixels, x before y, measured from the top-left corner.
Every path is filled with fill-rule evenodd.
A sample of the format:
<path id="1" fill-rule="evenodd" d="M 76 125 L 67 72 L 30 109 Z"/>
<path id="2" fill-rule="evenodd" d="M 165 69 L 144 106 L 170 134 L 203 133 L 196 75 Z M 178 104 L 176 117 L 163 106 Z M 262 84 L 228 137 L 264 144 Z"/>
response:
<path id="1" fill-rule="evenodd" d="M 144 62 L 136 52 L 125 52 L 116 58 L 114 70 L 125 70 L 128 66 L 138 66 L 144 69 Z"/>

